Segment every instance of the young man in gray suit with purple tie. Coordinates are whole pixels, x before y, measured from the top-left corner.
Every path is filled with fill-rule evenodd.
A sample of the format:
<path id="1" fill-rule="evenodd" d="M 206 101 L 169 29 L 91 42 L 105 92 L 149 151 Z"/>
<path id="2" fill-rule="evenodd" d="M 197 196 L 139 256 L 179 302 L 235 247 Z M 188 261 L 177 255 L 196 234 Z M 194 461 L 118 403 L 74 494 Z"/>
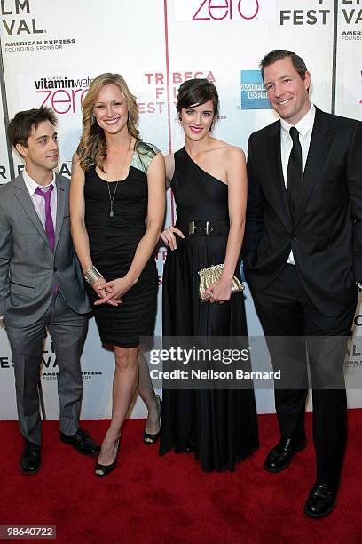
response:
<path id="1" fill-rule="evenodd" d="M 25 170 L 0 187 L 0 316 L 12 348 L 21 469 L 41 465 L 38 380 L 46 327 L 55 348 L 60 440 L 96 455 L 99 446 L 79 428 L 83 396 L 80 356 L 91 311 L 70 235 L 69 181 L 58 164 L 57 119 L 51 109 L 19 112 L 8 126 Z"/>

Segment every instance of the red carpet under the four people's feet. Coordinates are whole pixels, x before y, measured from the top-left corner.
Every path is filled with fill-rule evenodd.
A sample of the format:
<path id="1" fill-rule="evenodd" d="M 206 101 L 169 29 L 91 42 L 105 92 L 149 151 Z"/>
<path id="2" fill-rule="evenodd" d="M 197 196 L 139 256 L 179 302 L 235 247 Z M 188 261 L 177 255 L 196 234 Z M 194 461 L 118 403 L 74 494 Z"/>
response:
<path id="1" fill-rule="evenodd" d="M 205 474 L 192 455 L 142 444 L 143 420 L 129 420 L 118 467 L 105 479 L 92 474 L 94 460 L 61 444 L 58 422 L 43 432 L 43 466 L 35 476 L 19 470 L 22 440 L 15 421 L 0 422 L 0 524 L 57 526 L 57 542 L 278 543 L 361 542 L 362 410 L 350 410 L 350 441 L 339 504 L 322 520 L 303 514 L 314 480 L 311 414 L 308 448 L 284 472 L 262 467 L 278 440 L 275 416 L 259 416 L 262 447 L 233 473 Z M 83 427 L 101 440 L 107 421 Z"/>

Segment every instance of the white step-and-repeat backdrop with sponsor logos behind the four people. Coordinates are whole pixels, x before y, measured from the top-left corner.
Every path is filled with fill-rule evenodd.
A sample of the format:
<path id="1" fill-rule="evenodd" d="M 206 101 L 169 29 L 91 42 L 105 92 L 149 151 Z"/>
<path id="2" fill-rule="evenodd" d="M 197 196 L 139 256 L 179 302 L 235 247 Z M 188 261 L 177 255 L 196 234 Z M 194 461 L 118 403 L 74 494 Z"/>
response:
<path id="1" fill-rule="evenodd" d="M 119 72 L 136 94 L 145 141 L 164 154 L 183 145 L 175 101 L 192 77 L 216 83 L 220 100 L 217 138 L 247 148 L 248 136 L 276 116 L 258 63 L 271 49 L 291 49 L 312 76 L 311 100 L 325 111 L 362 119 L 362 4 L 360 0 L 4 0 L 1 52 L 4 86 L 0 113 L 0 182 L 10 180 L 4 119 L 21 109 L 53 108 L 59 119 L 59 172 L 70 175 L 81 133 L 83 98 L 92 78 Z M 2 113 L 4 112 L 4 115 Z M 20 157 L 12 157 L 20 172 Z M 173 220 L 169 196 L 166 223 Z M 161 283 L 165 248 L 155 253 L 159 276 L 156 334 L 161 334 Z M 262 334 L 248 289 L 248 331 Z M 362 308 L 355 335 L 362 325 Z M 346 372 L 362 368 L 350 344 Z M 83 418 L 108 417 L 113 354 L 100 346 L 94 320 L 83 352 Z M 51 338 L 43 352 L 46 415 L 58 417 L 57 362 Z M 16 419 L 12 357 L 0 328 L 0 419 Z M 256 391 L 259 412 L 272 412 L 272 392 Z M 349 390 L 350 406 L 362 392 Z M 143 416 L 138 400 L 133 417 Z"/>

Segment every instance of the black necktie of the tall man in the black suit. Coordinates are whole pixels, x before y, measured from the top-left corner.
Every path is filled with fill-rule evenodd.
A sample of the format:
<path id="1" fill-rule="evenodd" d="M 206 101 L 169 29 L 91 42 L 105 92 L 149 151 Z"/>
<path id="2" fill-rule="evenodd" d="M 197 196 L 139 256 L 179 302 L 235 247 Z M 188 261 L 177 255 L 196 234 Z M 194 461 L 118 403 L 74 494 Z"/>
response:
<path id="1" fill-rule="evenodd" d="M 299 132 L 296 130 L 295 126 L 292 126 L 289 130 L 289 134 L 293 140 L 293 148 L 287 163 L 287 201 L 289 203 L 292 219 L 295 220 L 300 196 L 302 194 L 302 146 L 299 141 Z"/>

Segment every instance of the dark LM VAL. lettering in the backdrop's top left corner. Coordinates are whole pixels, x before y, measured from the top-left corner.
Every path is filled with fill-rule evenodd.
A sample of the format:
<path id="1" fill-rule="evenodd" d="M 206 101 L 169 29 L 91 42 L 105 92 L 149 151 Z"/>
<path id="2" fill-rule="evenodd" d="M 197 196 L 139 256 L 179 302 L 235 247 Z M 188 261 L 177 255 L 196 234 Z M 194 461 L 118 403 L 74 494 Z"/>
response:
<path id="1" fill-rule="evenodd" d="M 0 8 L 2 14 L 3 28 L 8 36 L 20 34 L 43 34 L 42 28 L 38 28 L 36 20 L 33 19 L 19 19 L 16 17 L 23 13 L 30 14 L 30 2 L 29 0 L 0 0 Z"/>

